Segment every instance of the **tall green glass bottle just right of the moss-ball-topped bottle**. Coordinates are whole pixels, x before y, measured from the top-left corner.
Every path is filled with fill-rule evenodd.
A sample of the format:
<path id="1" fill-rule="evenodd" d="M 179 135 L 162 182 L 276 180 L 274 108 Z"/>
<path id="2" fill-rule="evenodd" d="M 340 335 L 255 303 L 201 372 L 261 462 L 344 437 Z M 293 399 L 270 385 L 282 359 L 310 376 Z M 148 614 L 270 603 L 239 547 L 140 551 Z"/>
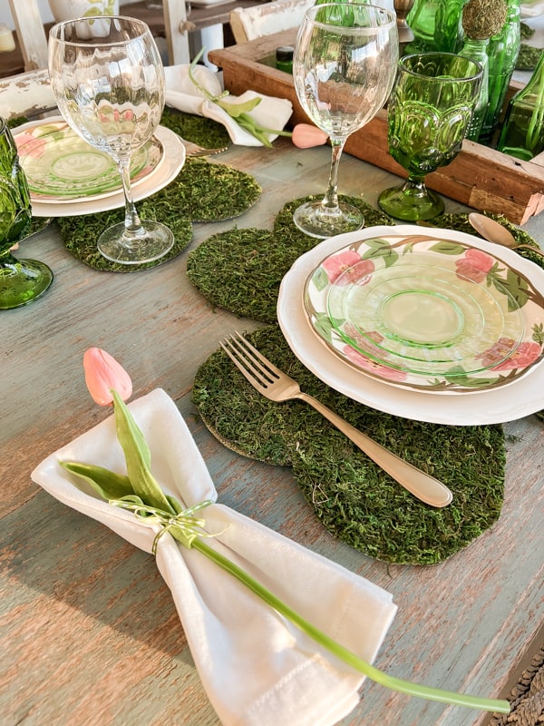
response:
<path id="1" fill-rule="evenodd" d="M 499 34 L 488 45 L 489 106 L 481 124 L 480 141 L 491 142 L 520 53 L 520 0 L 507 0 L 508 15 Z"/>

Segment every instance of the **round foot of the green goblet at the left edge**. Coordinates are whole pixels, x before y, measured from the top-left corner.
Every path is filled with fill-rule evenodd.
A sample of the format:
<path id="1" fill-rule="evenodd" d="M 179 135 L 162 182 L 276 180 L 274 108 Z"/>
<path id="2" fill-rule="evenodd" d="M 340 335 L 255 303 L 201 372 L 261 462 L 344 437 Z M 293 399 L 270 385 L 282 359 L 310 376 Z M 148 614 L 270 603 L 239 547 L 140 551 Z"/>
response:
<path id="1" fill-rule="evenodd" d="M 0 310 L 21 308 L 40 298 L 53 282 L 53 272 L 38 260 L 0 258 Z"/>

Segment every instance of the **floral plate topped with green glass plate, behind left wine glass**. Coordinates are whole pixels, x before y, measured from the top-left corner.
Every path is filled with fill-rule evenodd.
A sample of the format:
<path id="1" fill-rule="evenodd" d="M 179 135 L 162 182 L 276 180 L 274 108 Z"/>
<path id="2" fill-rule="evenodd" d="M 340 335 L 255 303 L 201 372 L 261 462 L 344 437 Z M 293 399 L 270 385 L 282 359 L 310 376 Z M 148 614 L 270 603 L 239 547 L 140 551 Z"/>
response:
<path id="1" fill-rule="evenodd" d="M 35 201 L 101 199 L 121 189 L 112 157 L 83 141 L 63 119 L 24 124 L 14 139 Z M 153 136 L 132 156 L 132 185 L 156 172 L 163 159 L 162 144 Z"/>

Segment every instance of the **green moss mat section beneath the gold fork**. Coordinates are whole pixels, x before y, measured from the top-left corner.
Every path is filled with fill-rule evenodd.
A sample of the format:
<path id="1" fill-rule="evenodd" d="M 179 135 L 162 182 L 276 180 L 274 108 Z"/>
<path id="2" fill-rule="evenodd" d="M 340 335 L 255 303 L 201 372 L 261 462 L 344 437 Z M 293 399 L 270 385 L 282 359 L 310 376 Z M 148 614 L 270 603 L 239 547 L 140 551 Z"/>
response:
<path id="1" fill-rule="evenodd" d="M 316 378 L 277 325 L 247 338 L 306 393 L 452 489 L 451 505 L 424 505 L 306 403 L 267 400 L 226 354 L 212 354 L 199 368 L 192 392 L 206 426 L 239 454 L 291 466 L 308 504 L 338 539 L 384 562 L 436 564 L 497 521 L 505 465 L 502 427 L 445 427 L 384 414 Z"/>

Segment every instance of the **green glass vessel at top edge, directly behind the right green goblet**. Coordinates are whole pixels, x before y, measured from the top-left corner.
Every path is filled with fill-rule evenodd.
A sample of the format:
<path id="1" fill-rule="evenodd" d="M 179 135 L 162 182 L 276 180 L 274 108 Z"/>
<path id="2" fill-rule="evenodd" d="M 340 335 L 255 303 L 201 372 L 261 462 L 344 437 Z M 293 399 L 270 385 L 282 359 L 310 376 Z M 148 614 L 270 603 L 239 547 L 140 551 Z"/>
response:
<path id="1" fill-rule="evenodd" d="M 408 15 L 413 41 L 405 53 L 457 53 L 462 43 L 461 13 L 467 0 L 415 0 Z"/>

